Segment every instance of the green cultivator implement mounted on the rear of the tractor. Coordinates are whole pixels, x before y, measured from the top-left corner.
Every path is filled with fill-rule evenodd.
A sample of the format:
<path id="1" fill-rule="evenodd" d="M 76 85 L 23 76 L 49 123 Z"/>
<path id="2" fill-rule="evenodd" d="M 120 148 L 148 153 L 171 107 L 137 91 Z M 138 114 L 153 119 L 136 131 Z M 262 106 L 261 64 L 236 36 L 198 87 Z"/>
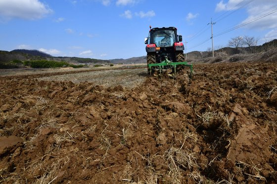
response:
<path id="1" fill-rule="evenodd" d="M 148 64 L 147 68 L 148 68 L 148 71 L 150 71 L 150 75 L 152 74 L 152 71 L 153 71 L 152 67 L 158 68 L 160 74 L 162 74 L 164 72 L 165 67 L 174 68 L 174 75 L 176 76 L 176 68 L 177 68 L 178 65 L 183 65 L 185 67 L 189 67 L 190 68 L 189 77 L 190 78 L 192 77 L 192 72 L 193 72 L 192 64 L 187 64 L 187 62 L 172 62 L 172 61 L 169 61 L 167 59 L 167 57 L 161 63 Z"/>

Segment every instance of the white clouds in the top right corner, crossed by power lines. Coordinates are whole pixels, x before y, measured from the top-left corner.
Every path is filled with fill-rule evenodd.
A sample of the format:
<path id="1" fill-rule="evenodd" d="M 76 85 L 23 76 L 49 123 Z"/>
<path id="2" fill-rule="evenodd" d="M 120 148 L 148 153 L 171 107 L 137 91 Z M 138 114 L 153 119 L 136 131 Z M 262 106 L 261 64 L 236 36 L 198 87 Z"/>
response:
<path id="1" fill-rule="evenodd" d="M 216 6 L 216 11 L 228 11 L 228 10 L 233 11 L 247 4 L 248 2 L 249 1 L 244 1 L 244 0 L 228 0 L 225 3 L 223 0 L 221 0 Z M 251 3 L 245 6 L 248 17 L 240 24 L 249 23 L 255 20 L 247 24 L 245 27 L 248 29 L 259 29 L 259 30 L 277 28 L 277 21 L 276 21 L 277 12 L 271 15 L 268 15 L 266 17 L 263 17 L 259 20 L 256 20 L 257 18 L 276 10 L 273 4 L 276 4 L 276 0 L 255 0 L 253 2 L 251 1 Z"/>

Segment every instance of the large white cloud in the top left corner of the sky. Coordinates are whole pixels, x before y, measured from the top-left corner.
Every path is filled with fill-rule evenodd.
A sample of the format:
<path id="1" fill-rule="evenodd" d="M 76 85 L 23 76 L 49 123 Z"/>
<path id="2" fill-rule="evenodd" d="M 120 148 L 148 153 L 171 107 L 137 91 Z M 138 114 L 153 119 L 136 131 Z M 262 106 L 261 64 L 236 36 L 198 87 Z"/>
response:
<path id="1" fill-rule="evenodd" d="M 4 19 L 40 19 L 53 12 L 39 0 L 0 0 L 0 17 Z"/>

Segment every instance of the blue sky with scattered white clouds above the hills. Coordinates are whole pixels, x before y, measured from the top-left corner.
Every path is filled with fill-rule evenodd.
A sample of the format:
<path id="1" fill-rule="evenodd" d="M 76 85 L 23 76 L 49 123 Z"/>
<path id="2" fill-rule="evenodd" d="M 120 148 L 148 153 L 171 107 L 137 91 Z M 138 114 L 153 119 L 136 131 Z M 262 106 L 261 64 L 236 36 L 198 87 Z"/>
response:
<path id="1" fill-rule="evenodd" d="M 253 21 L 215 37 L 215 48 L 244 35 L 261 44 L 277 38 L 275 10 L 277 0 L 0 0 L 0 50 L 126 59 L 146 55 L 151 25 L 177 27 L 187 52 L 205 51 L 211 47 L 211 18 L 215 36 Z"/>

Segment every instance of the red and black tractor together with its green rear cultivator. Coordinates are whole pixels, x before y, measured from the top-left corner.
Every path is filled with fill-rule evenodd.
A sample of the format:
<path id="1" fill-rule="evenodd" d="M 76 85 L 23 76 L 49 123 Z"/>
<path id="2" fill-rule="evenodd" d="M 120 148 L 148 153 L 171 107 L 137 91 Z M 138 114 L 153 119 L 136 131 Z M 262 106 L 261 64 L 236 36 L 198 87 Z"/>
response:
<path id="1" fill-rule="evenodd" d="M 172 69 L 174 76 L 176 76 L 177 66 L 185 66 L 190 68 L 190 78 L 192 77 L 192 65 L 185 62 L 184 44 L 181 42 L 182 36 L 177 35 L 175 27 L 169 28 L 153 28 L 148 37 L 145 38 L 144 43 L 147 44 L 147 70 L 148 74 L 160 74 L 164 70 Z M 179 67 L 178 67 L 179 68 Z"/>

